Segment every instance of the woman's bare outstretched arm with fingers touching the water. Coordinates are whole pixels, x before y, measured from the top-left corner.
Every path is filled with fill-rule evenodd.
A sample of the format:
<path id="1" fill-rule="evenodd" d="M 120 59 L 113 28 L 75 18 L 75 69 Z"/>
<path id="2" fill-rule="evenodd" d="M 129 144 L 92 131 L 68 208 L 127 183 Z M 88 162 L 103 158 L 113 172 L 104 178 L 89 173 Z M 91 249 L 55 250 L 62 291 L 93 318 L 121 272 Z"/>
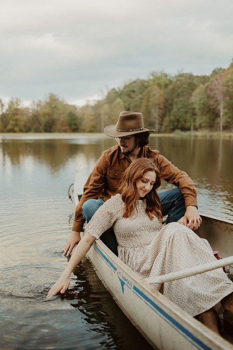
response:
<path id="1" fill-rule="evenodd" d="M 73 269 L 77 266 L 77 264 L 82 260 L 84 255 L 88 252 L 90 247 L 93 245 L 96 237 L 91 236 L 89 232 L 86 232 L 83 239 L 79 242 L 76 248 L 73 251 L 71 258 L 67 264 L 65 271 L 59 280 L 53 285 L 53 287 L 49 290 L 47 294 L 47 298 L 50 298 L 57 293 L 64 294 L 69 286 L 69 277 Z"/>

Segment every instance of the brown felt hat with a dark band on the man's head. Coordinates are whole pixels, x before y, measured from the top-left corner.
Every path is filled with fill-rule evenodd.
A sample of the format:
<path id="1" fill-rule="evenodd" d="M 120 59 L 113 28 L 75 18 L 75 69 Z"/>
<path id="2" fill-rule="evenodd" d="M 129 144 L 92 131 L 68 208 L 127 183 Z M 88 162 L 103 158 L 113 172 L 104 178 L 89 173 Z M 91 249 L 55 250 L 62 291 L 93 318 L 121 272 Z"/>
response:
<path id="1" fill-rule="evenodd" d="M 142 113 L 121 112 L 116 125 L 108 125 L 104 128 L 104 133 L 112 138 L 121 138 L 133 134 L 153 132 L 144 128 Z"/>

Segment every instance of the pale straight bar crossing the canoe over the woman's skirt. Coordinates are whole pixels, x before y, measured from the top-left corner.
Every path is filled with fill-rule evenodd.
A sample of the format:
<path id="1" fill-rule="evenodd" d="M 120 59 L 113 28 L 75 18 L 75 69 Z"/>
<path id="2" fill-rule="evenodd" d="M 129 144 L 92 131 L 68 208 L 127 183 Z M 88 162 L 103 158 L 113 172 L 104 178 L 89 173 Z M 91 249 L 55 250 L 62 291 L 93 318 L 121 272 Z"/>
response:
<path id="1" fill-rule="evenodd" d="M 202 265 L 190 267 L 185 270 L 171 272 L 166 275 L 156 276 L 152 278 L 145 279 L 148 283 L 164 283 L 172 280 L 180 280 L 186 277 L 195 276 L 198 274 L 202 274 L 203 272 L 219 269 L 220 267 L 228 266 L 233 264 L 233 256 L 229 256 L 228 258 L 211 261 L 210 263 L 205 263 Z"/>

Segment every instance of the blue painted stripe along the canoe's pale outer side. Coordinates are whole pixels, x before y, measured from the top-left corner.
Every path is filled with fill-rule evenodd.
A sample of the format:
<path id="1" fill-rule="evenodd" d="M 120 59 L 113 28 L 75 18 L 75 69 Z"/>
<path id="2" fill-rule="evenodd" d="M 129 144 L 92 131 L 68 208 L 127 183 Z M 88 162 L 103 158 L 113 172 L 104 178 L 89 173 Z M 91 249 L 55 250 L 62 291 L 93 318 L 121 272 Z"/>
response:
<path id="1" fill-rule="evenodd" d="M 106 261 L 106 263 L 116 272 L 117 268 L 113 265 L 113 263 L 103 254 L 103 252 L 100 250 L 100 248 L 97 245 L 93 245 L 93 247 L 98 251 L 98 253 L 101 255 L 101 257 Z M 184 335 L 187 336 L 187 338 L 190 338 L 192 340 L 192 344 L 196 343 L 197 346 L 201 349 L 205 350 L 211 350 L 207 345 L 205 345 L 203 342 L 201 342 L 200 339 L 195 337 L 191 332 L 189 332 L 184 326 L 182 326 L 179 322 L 177 322 L 174 318 L 172 318 L 170 315 L 168 315 L 163 309 L 161 309 L 155 302 L 153 302 L 148 296 L 146 296 L 139 288 L 137 288 L 135 285 L 133 285 L 133 290 L 146 302 L 148 302 L 154 309 L 156 309 L 161 315 L 165 317 L 165 319 L 171 323 L 171 325 L 174 325 L 175 328 L 178 328 Z M 187 339 L 189 340 L 189 339 Z M 194 344 L 195 345 L 195 344 Z"/>

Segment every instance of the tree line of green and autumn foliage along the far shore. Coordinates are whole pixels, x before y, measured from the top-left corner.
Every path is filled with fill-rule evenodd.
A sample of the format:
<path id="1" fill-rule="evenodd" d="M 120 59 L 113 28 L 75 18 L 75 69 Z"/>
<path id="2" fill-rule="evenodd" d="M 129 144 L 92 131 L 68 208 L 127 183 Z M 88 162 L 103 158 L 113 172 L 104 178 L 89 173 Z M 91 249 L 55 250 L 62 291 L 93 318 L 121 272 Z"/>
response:
<path id="1" fill-rule="evenodd" d="M 0 99 L 0 132 L 102 132 L 123 110 L 140 111 L 145 127 L 233 132 L 233 62 L 208 75 L 152 72 L 148 79 L 113 88 L 94 105 L 69 105 L 54 94 L 24 107 L 19 99 Z"/>

